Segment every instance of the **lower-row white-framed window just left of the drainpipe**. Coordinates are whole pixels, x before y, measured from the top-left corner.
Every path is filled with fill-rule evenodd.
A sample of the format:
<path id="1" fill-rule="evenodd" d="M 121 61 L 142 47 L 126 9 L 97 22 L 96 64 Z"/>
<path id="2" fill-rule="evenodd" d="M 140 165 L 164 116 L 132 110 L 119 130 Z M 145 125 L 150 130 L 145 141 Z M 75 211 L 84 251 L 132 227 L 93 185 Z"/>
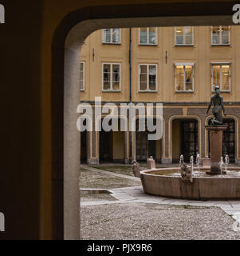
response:
<path id="1" fill-rule="evenodd" d="M 103 90 L 120 91 L 120 64 L 103 64 Z"/>

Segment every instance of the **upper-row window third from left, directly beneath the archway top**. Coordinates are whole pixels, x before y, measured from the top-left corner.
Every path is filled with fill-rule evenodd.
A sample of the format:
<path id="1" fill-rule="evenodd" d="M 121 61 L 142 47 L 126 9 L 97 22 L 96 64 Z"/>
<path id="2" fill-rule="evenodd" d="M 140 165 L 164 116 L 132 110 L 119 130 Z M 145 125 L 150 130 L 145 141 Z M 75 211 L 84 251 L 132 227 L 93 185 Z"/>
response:
<path id="1" fill-rule="evenodd" d="M 175 27 L 175 45 L 193 46 L 193 26 Z"/>

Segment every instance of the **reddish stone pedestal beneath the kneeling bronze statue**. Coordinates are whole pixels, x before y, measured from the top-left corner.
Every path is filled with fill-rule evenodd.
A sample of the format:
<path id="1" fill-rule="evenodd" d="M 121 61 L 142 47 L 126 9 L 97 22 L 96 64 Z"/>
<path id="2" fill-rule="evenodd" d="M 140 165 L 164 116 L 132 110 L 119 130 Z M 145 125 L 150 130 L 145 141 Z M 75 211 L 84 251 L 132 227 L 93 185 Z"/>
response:
<path id="1" fill-rule="evenodd" d="M 210 172 L 209 175 L 222 173 L 220 162 L 222 157 L 222 134 L 227 126 L 205 126 L 210 131 Z"/>

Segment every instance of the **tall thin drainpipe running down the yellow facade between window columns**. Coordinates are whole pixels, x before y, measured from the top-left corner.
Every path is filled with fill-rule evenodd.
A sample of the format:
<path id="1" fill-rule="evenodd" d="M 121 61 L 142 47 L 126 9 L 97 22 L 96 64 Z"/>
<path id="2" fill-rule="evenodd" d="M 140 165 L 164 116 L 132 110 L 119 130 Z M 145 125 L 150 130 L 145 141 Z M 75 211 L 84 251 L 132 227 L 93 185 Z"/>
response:
<path id="1" fill-rule="evenodd" d="M 130 28 L 129 32 L 129 102 L 132 103 L 132 28 Z M 129 160 L 130 164 L 132 164 L 132 132 L 129 131 Z"/>

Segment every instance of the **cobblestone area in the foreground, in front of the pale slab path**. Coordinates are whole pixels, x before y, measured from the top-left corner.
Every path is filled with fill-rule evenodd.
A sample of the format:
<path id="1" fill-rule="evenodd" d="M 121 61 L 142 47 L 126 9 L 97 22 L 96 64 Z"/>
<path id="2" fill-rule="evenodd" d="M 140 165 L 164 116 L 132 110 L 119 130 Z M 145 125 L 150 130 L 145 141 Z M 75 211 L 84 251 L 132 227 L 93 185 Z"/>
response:
<path id="1" fill-rule="evenodd" d="M 151 203 L 81 207 L 82 240 L 239 240 L 218 207 Z"/>

